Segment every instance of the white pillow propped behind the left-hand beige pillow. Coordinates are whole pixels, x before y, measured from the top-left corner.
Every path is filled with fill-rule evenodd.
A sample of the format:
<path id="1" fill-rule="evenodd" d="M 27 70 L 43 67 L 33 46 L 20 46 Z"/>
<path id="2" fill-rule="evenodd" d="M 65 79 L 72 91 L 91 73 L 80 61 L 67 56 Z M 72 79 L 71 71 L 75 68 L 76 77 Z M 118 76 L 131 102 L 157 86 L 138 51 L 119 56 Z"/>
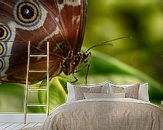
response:
<path id="1" fill-rule="evenodd" d="M 103 83 L 98 83 L 98 84 L 90 84 L 90 85 L 86 85 L 86 86 L 79 86 L 79 87 L 97 87 L 97 86 L 101 86 L 103 85 L 102 87 L 102 93 L 110 93 L 109 89 L 108 89 L 108 86 L 109 86 L 109 83 L 106 81 L 106 82 L 103 82 Z M 74 87 L 75 86 L 78 86 L 78 85 L 73 85 L 69 82 L 67 82 L 67 91 L 68 91 L 68 96 L 67 96 L 67 103 L 68 102 L 73 102 L 75 101 L 75 92 L 74 92 Z M 108 92 L 109 91 L 109 92 Z"/>

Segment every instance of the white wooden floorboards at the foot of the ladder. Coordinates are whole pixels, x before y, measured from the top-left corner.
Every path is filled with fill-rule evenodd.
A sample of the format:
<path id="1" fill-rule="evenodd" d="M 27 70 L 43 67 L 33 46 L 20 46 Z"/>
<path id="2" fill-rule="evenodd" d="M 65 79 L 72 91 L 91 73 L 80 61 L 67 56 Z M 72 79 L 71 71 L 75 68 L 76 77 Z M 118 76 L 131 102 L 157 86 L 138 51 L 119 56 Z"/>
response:
<path id="1" fill-rule="evenodd" d="M 20 130 L 28 127 L 42 126 L 43 123 L 0 123 L 0 130 Z"/>

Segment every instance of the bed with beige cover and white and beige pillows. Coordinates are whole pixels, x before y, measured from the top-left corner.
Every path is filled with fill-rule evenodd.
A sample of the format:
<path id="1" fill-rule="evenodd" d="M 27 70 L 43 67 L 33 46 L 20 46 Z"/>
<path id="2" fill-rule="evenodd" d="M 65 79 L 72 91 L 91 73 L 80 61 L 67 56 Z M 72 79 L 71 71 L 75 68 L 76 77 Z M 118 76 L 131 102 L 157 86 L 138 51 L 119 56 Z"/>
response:
<path id="1" fill-rule="evenodd" d="M 67 103 L 50 114 L 43 130 L 163 130 L 163 110 L 149 102 L 147 85 L 69 86 Z"/>

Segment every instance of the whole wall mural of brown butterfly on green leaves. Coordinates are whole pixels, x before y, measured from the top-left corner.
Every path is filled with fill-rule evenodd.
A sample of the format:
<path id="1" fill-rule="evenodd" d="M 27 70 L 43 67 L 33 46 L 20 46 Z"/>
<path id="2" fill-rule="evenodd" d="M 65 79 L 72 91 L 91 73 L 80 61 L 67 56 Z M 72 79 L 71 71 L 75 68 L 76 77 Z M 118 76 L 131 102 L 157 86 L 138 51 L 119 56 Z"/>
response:
<path id="1" fill-rule="evenodd" d="M 50 110 L 66 101 L 66 82 L 77 77 L 77 84 L 85 83 L 88 72 L 85 64 L 80 64 L 82 70 L 75 76 L 70 75 L 80 62 L 90 64 L 88 83 L 148 82 L 150 100 L 160 104 L 163 100 L 161 1 L 88 0 L 87 15 L 83 0 L 80 8 L 76 8 L 79 4 L 76 2 L 73 9 L 64 9 L 60 2 L 54 2 L 0 1 L 0 112 L 23 112 L 22 83 L 26 76 L 29 40 L 32 54 L 44 54 L 46 41 L 50 42 L 50 75 L 53 77 Z M 91 57 L 90 53 L 83 53 L 94 45 L 122 37 L 132 38 L 93 48 Z M 45 58 L 33 58 L 30 65 L 31 69 L 43 69 L 44 64 Z M 30 75 L 31 83 L 39 82 L 31 87 L 45 87 L 46 80 L 42 80 L 45 77 L 44 73 Z M 29 97 L 31 103 L 46 102 L 45 92 L 35 92 Z M 45 108 L 29 107 L 29 111 L 45 112 Z"/>

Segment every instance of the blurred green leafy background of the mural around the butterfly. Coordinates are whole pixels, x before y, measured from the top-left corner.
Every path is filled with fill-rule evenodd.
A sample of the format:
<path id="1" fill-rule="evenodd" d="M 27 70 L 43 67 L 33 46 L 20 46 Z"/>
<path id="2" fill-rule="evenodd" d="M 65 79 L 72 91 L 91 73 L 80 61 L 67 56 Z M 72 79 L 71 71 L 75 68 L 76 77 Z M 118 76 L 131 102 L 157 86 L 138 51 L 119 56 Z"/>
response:
<path id="1" fill-rule="evenodd" d="M 161 0 L 88 0 L 88 16 L 82 50 L 122 36 L 132 36 L 91 50 L 88 82 L 111 81 L 117 84 L 149 83 L 150 101 L 163 100 L 163 2 Z M 86 71 L 78 74 L 84 82 Z M 50 84 L 50 110 L 66 101 L 63 74 Z M 40 87 L 33 85 L 31 87 Z M 0 112 L 23 112 L 24 85 L 0 85 Z M 33 93 L 31 103 L 45 103 L 45 93 Z M 45 108 L 29 108 L 29 112 L 45 112 Z"/>

